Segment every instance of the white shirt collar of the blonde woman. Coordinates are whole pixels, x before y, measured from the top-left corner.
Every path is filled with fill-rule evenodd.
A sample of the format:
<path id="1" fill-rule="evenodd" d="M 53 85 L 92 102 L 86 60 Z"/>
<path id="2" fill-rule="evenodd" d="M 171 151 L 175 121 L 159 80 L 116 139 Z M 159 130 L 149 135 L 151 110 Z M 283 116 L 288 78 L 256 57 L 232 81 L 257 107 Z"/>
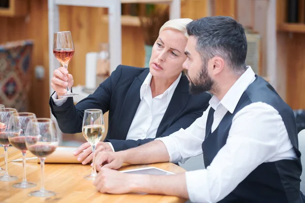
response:
<path id="1" fill-rule="evenodd" d="M 177 87 L 181 76 L 182 76 L 182 73 L 179 74 L 178 78 L 169 86 L 169 88 L 167 88 L 167 90 L 165 90 L 165 92 L 163 94 L 158 95 L 157 97 L 162 98 L 163 96 L 167 95 L 167 100 L 170 100 L 168 98 L 173 95 L 173 92 L 174 92 L 175 88 Z M 153 78 L 153 75 L 151 75 L 151 73 L 148 73 L 143 84 L 141 85 L 141 88 L 140 88 L 140 99 L 141 100 L 143 99 L 143 96 L 146 94 L 146 92 L 148 90 L 150 90 L 151 78 Z"/>

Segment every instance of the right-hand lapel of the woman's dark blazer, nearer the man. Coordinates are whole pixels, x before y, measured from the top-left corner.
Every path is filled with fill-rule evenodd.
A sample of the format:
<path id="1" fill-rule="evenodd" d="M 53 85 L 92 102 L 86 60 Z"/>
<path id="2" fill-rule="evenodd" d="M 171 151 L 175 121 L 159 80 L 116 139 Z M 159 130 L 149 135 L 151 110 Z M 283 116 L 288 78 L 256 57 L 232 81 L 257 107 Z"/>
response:
<path id="1" fill-rule="evenodd" d="M 189 81 L 186 76 L 182 74 L 180 81 L 174 91 L 174 94 L 170 100 L 167 110 L 158 127 L 156 138 L 171 125 L 172 121 L 179 115 L 187 104 L 189 94 Z"/>

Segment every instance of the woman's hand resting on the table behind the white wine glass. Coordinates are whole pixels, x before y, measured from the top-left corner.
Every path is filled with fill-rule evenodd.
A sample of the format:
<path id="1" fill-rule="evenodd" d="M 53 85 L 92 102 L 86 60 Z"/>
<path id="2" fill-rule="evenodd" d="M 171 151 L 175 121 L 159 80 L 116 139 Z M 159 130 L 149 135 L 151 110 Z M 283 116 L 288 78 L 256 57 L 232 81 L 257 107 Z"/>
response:
<path id="1" fill-rule="evenodd" d="M 112 152 L 112 149 L 109 144 L 104 142 L 99 142 L 96 146 L 96 154 L 102 151 Z M 82 161 L 83 165 L 87 164 L 93 158 L 91 145 L 88 142 L 82 144 L 75 150 L 74 155 L 78 156 L 77 160 Z"/>

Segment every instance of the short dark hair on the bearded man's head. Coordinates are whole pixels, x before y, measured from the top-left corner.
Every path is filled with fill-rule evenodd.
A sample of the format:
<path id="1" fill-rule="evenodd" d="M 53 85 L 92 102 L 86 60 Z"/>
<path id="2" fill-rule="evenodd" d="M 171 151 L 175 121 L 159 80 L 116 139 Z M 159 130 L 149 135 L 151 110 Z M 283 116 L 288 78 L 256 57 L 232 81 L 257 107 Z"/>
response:
<path id="1" fill-rule="evenodd" d="M 196 50 L 204 61 L 222 57 L 236 72 L 246 70 L 247 39 L 245 28 L 229 16 L 211 16 L 187 25 L 189 36 L 197 39 Z"/>

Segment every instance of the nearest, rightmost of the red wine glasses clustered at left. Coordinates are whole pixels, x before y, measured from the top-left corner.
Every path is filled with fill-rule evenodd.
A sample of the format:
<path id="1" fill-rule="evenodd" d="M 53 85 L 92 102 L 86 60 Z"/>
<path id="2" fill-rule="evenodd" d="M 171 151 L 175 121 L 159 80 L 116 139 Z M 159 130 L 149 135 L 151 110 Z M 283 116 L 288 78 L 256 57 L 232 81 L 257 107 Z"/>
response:
<path id="1" fill-rule="evenodd" d="M 55 192 L 44 188 L 45 159 L 58 146 L 55 122 L 49 118 L 38 118 L 35 121 L 29 121 L 25 131 L 25 145 L 30 152 L 40 159 L 41 166 L 40 190 L 30 192 L 29 196 L 47 197 L 55 195 Z"/>

